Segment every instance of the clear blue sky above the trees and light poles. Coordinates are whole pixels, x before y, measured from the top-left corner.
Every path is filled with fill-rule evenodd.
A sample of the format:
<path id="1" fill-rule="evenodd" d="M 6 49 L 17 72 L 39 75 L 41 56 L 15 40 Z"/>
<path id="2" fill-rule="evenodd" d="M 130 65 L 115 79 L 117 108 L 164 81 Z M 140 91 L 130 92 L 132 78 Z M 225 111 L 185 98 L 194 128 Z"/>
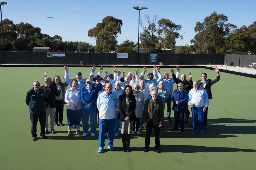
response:
<path id="1" fill-rule="evenodd" d="M 96 44 L 93 38 L 87 36 L 90 28 L 101 22 L 102 18 L 111 15 L 122 19 L 122 34 L 118 35 L 118 44 L 125 39 L 138 41 L 138 11 L 132 6 L 148 7 L 140 11 L 144 15 L 158 15 L 158 18 L 168 18 L 175 24 L 180 24 L 180 34 L 183 40 L 177 39 L 176 45 L 190 45 L 194 38 L 194 27 L 197 21 L 203 22 L 206 16 L 216 11 L 228 16 L 228 22 L 238 28 L 248 26 L 256 21 L 253 7 L 254 0 L 4 0 L 2 6 L 3 19 L 8 18 L 14 24 L 24 22 L 41 28 L 41 33 L 54 36 L 60 35 L 63 41 L 84 41 Z M 46 17 L 55 17 L 46 18 Z M 144 21 L 146 24 L 146 22 Z M 142 28 L 140 28 L 142 31 Z"/>

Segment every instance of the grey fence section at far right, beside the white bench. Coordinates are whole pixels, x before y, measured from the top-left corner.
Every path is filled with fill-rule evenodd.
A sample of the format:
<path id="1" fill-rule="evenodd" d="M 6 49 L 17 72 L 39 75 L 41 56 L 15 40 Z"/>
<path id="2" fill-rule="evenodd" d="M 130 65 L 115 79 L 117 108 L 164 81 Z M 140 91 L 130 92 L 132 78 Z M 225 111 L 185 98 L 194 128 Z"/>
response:
<path id="1" fill-rule="evenodd" d="M 256 63 L 256 55 L 225 54 L 225 62 L 228 66 L 239 66 L 239 61 L 240 67 L 251 68 L 249 65 Z"/>

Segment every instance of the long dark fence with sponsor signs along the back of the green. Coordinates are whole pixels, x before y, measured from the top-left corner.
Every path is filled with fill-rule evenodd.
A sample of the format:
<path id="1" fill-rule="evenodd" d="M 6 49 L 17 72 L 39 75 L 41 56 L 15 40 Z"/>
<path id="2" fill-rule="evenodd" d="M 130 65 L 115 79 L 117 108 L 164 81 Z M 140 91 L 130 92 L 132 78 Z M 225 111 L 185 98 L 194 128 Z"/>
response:
<path id="1" fill-rule="evenodd" d="M 117 58 L 117 53 L 65 53 L 65 57 L 47 58 L 40 52 L 0 52 L 0 63 L 6 64 L 80 64 L 85 65 L 223 65 L 224 54 L 158 54 L 158 62 L 149 62 L 149 54 L 129 53 Z"/>

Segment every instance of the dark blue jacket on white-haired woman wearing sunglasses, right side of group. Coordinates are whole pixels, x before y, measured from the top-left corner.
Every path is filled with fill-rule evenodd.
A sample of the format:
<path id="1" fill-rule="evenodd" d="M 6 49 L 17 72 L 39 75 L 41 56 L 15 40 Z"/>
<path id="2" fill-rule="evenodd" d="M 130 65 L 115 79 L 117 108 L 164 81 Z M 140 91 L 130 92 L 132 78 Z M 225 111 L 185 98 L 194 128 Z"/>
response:
<path id="1" fill-rule="evenodd" d="M 176 101 L 179 101 L 179 103 L 182 104 L 182 110 L 181 112 L 185 111 L 188 108 L 188 92 L 186 90 L 183 90 L 183 99 L 179 100 L 180 91 L 178 89 L 175 89 L 172 93 L 171 100 L 172 100 L 172 110 L 179 111 L 179 107 L 176 104 Z"/>

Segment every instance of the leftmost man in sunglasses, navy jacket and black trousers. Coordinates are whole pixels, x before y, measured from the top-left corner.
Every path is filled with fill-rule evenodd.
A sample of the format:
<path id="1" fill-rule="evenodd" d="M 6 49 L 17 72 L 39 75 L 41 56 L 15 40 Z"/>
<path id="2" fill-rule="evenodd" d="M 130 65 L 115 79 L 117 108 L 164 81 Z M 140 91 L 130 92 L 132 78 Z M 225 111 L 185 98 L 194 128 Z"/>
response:
<path id="1" fill-rule="evenodd" d="M 33 88 L 27 92 L 26 104 L 29 107 L 31 120 L 32 140 L 36 140 L 36 124 L 39 119 L 41 132 L 40 136 L 45 137 L 45 106 L 44 106 L 44 90 L 39 89 L 40 83 L 35 81 Z"/>

